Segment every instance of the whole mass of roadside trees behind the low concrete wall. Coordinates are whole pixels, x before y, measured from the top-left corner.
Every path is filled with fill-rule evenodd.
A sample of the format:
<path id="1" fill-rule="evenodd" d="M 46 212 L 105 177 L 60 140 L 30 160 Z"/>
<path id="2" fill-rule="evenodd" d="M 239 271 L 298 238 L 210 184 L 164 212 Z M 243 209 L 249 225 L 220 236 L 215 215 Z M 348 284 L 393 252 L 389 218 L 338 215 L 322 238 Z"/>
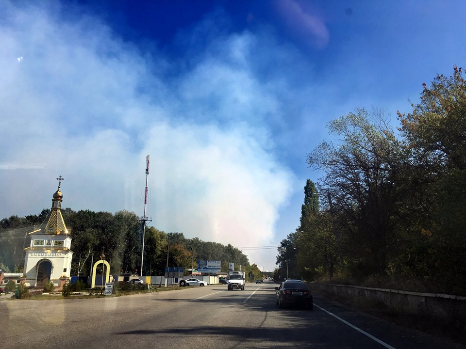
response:
<path id="1" fill-rule="evenodd" d="M 300 226 L 275 279 L 466 296 L 466 83 L 461 68 L 423 84 L 396 129 L 383 111 L 329 123 L 308 154 Z"/>

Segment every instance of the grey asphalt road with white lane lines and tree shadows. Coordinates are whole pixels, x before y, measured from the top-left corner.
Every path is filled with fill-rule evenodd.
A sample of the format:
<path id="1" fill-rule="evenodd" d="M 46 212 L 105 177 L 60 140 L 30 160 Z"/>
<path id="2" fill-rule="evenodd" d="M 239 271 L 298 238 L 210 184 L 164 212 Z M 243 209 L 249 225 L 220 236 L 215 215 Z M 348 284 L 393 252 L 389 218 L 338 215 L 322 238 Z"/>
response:
<path id="1" fill-rule="evenodd" d="M 0 301 L 2 348 L 464 348 L 315 297 L 279 309 L 275 285 L 225 285 L 132 296 Z M 45 297 L 45 296 L 44 296 Z"/>

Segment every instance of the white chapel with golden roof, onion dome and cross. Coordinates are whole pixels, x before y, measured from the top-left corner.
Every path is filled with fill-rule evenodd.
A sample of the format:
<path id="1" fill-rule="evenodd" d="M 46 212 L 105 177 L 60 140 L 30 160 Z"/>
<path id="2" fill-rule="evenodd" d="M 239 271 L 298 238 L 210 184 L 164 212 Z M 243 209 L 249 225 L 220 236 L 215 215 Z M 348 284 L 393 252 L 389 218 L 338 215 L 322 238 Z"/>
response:
<path id="1" fill-rule="evenodd" d="M 29 233 L 31 245 L 26 248 L 23 275 L 28 287 L 45 286 L 51 280 L 55 287 L 61 288 L 70 276 L 71 235 L 61 212 L 63 195 L 60 185 L 64 178 L 57 179 L 58 190 L 53 194 L 49 215 L 39 229 Z"/>

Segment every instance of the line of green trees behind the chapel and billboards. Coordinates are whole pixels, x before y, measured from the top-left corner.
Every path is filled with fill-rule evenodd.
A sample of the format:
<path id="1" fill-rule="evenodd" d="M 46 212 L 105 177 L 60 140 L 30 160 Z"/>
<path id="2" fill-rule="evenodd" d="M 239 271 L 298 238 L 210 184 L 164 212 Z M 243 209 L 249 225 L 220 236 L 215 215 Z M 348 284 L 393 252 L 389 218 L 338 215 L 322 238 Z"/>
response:
<path id="1" fill-rule="evenodd" d="M 22 272 L 24 246 L 29 246 L 28 232 L 44 221 L 49 213 L 44 209 L 39 215 L 26 217 L 11 216 L 0 221 L 0 267 L 7 272 Z M 110 273 L 135 273 L 140 269 L 140 246 L 142 225 L 133 212 L 93 212 L 62 209 L 68 230 L 72 234 L 71 275 L 90 275 L 91 262 L 102 252 L 110 262 Z M 28 240 L 29 239 L 29 240 Z M 169 243 L 168 243 L 169 241 Z M 221 260 L 222 272 L 228 272 L 228 262 L 246 271 L 252 280 L 260 274 L 248 257 L 231 244 L 202 241 L 199 238 L 185 238 L 183 233 L 165 233 L 152 226 L 146 227 L 144 239 L 144 275 L 164 275 L 169 267 L 197 268 L 198 260 Z M 94 262 L 96 258 L 94 258 Z M 255 267 L 254 267 L 255 266 Z M 251 275 L 251 276 L 249 276 Z"/>

